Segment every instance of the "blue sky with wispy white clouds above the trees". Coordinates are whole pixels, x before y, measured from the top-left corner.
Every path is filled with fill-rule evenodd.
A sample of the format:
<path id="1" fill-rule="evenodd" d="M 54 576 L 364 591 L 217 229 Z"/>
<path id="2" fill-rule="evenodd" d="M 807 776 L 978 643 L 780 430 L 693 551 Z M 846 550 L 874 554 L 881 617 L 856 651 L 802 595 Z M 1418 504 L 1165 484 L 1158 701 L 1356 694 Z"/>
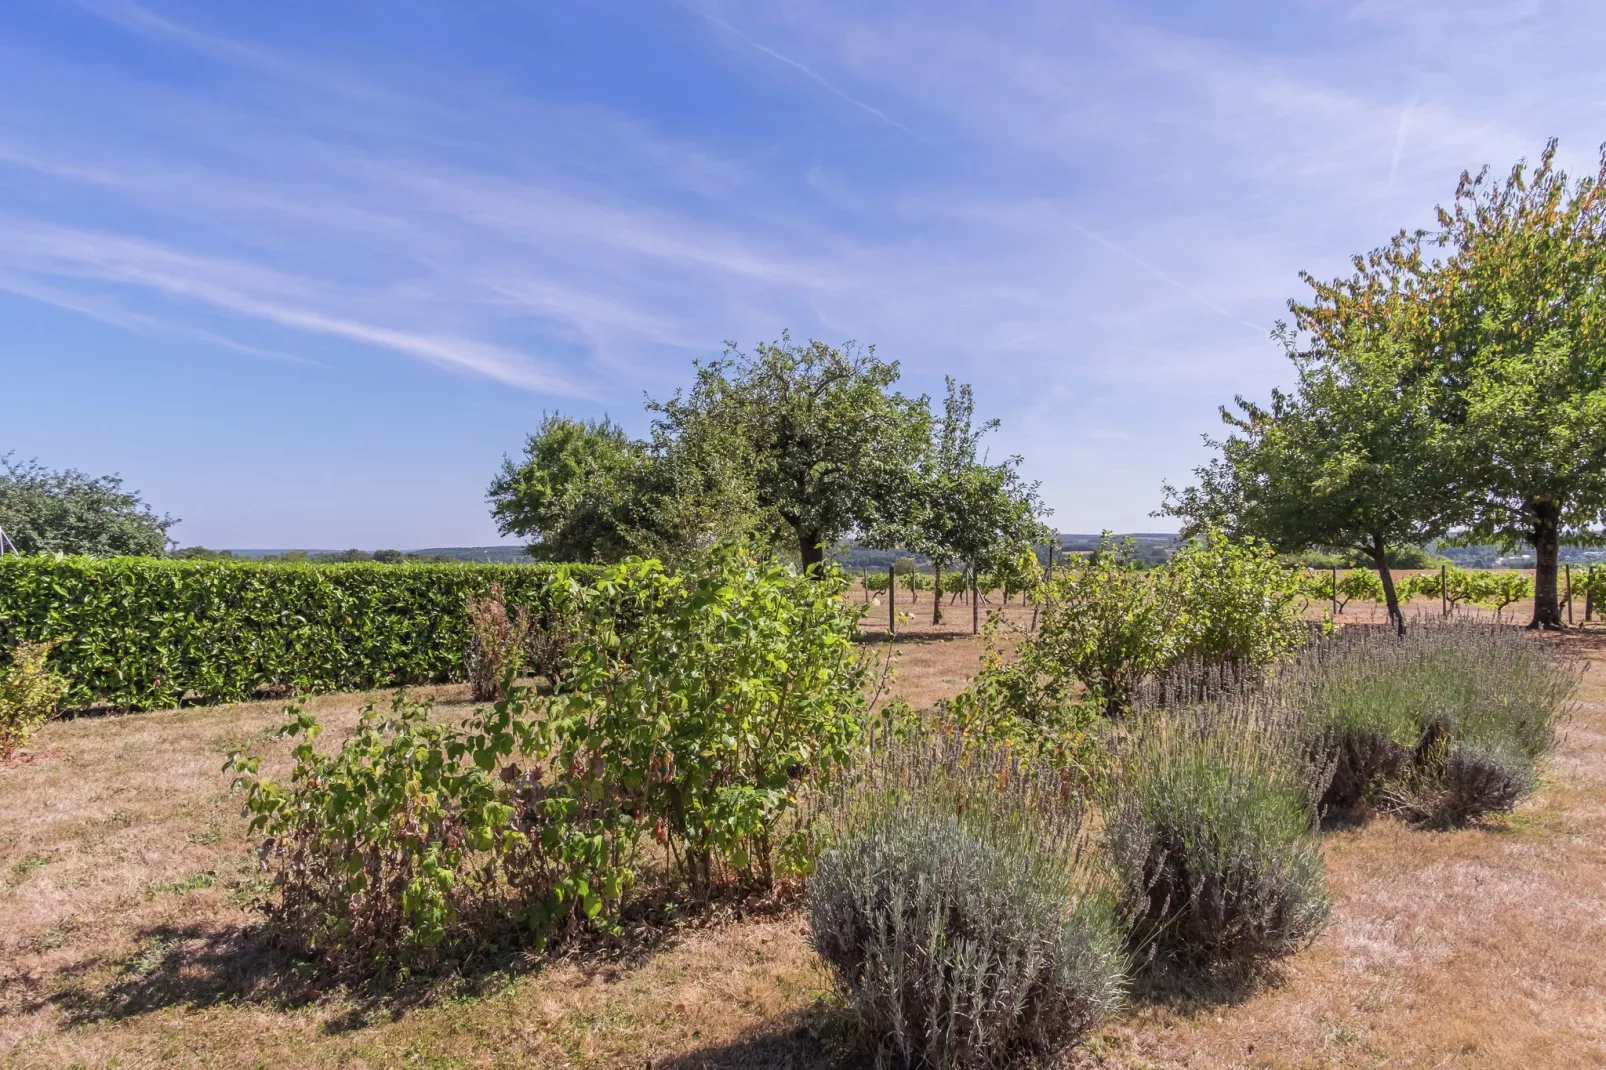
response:
<path id="1" fill-rule="evenodd" d="M 0 451 L 186 545 L 496 541 L 543 411 L 874 342 L 1155 530 L 1298 272 L 1606 140 L 1598 0 L 10 0 Z"/>

